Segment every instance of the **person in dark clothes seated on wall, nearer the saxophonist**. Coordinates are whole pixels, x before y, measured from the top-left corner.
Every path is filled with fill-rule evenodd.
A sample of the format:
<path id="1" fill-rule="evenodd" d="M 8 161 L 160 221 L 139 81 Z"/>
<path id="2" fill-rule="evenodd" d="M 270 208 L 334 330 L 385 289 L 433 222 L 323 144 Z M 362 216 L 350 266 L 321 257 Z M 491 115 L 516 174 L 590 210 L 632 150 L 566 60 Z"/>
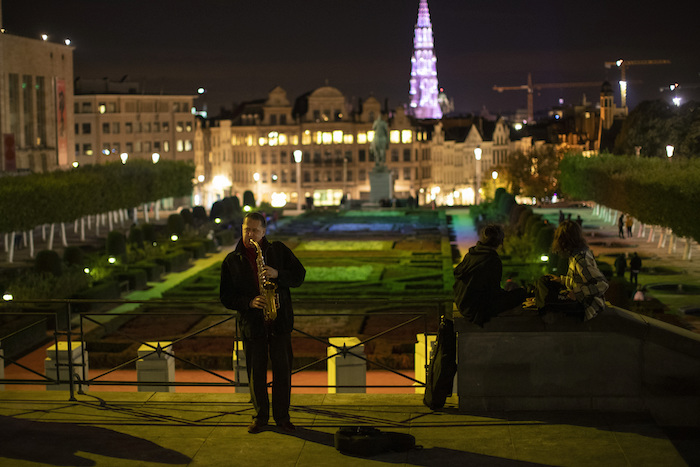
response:
<path id="1" fill-rule="evenodd" d="M 455 304 L 465 318 L 479 326 L 522 304 L 527 295 L 522 287 L 507 292 L 501 288 L 503 265 L 496 249 L 503 244 L 503 237 L 500 225 L 484 227 L 480 240 L 454 270 Z"/>

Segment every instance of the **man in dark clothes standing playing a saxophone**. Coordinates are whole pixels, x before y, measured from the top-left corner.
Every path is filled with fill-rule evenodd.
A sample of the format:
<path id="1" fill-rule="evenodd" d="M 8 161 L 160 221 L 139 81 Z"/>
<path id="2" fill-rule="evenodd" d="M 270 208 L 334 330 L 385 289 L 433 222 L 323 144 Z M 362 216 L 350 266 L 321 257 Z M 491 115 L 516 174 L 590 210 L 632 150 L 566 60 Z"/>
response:
<path id="1" fill-rule="evenodd" d="M 306 276 L 304 266 L 285 244 L 267 240 L 266 228 L 265 217 L 260 213 L 246 215 L 241 240 L 221 265 L 221 303 L 238 312 L 243 337 L 255 412 L 248 432 L 253 434 L 267 426 L 270 416 L 268 356 L 272 363 L 272 417 L 282 430 L 295 429 L 289 417 L 293 358 L 291 332 L 294 325 L 289 289 L 299 287 Z M 276 285 L 277 300 L 270 300 L 261 293 L 261 280 Z M 271 301 L 277 302 L 277 315 L 266 321 L 265 316 L 269 314 L 263 310 L 270 306 Z"/>

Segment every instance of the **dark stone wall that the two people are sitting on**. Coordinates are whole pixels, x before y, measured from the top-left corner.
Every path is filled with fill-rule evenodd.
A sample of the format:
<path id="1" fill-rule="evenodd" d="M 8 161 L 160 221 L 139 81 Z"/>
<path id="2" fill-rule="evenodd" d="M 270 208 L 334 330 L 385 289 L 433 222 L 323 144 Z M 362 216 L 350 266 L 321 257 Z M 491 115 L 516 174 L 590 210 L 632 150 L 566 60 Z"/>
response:
<path id="1" fill-rule="evenodd" d="M 700 426 L 700 336 L 617 307 L 588 322 L 536 311 L 484 328 L 455 316 L 461 411 L 649 412 Z"/>

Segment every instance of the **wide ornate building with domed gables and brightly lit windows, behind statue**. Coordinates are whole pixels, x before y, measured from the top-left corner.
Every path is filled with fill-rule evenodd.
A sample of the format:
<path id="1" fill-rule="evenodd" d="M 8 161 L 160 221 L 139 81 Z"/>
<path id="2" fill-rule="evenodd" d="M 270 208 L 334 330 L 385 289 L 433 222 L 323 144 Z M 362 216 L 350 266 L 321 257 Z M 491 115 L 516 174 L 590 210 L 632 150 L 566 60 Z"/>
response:
<path id="1" fill-rule="evenodd" d="M 394 197 L 416 196 L 431 180 L 429 131 L 417 128 L 402 108 L 387 118 L 374 97 L 353 108 L 338 89 L 325 86 L 294 102 L 276 87 L 267 99 L 239 106 L 230 118 L 198 125 L 201 199 L 250 190 L 257 200 L 273 204 L 294 204 L 298 197 L 311 197 L 315 205 L 337 205 L 343 196 L 368 200 L 375 166 L 372 124 L 380 117 L 389 124 L 386 164 Z"/>

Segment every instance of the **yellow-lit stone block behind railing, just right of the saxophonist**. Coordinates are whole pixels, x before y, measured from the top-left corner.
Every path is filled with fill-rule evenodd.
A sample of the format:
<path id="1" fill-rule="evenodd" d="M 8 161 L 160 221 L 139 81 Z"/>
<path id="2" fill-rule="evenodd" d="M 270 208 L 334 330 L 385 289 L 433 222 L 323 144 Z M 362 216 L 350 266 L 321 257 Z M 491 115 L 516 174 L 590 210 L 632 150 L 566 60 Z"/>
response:
<path id="1" fill-rule="evenodd" d="M 367 363 L 356 355 L 365 356 L 365 346 L 356 344 L 360 340 L 356 337 L 331 337 L 328 339 L 331 346 L 328 347 L 328 385 L 329 386 L 362 386 L 357 388 L 329 387 L 328 393 L 364 393 L 367 384 Z M 340 349 L 333 347 L 337 346 Z M 343 349 L 352 350 L 343 355 Z M 354 355 L 353 355 L 354 354 Z"/>

